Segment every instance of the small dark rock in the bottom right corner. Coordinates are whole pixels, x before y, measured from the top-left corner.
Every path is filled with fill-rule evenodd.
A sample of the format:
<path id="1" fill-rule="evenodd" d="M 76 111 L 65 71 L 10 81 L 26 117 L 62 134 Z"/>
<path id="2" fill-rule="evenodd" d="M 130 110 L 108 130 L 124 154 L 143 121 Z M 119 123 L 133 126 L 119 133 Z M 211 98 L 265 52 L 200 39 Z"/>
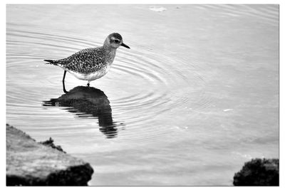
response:
<path id="1" fill-rule="evenodd" d="M 279 186 L 279 159 L 252 159 L 234 174 L 234 186 Z"/>

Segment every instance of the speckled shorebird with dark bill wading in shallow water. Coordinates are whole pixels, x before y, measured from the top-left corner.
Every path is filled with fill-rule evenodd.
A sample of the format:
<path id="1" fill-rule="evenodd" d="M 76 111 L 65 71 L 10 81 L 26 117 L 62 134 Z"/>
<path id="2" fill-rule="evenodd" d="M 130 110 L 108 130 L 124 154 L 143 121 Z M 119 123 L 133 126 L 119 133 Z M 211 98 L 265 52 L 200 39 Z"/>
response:
<path id="1" fill-rule="evenodd" d="M 111 33 L 105 38 L 103 46 L 86 48 L 67 58 L 59 60 L 45 59 L 44 61 L 48 62 L 46 64 L 63 68 L 63 91 L 67 93 L 64 85 L 66 71 L 80 80 L 88 80 L 87 86 L 89 87 L 90 81 L 101 78 L 108 73 L 115 58 L 116 50 L 120 46 L 130 49 L 129 46 L 123 43 L 120 33 Z"/>

